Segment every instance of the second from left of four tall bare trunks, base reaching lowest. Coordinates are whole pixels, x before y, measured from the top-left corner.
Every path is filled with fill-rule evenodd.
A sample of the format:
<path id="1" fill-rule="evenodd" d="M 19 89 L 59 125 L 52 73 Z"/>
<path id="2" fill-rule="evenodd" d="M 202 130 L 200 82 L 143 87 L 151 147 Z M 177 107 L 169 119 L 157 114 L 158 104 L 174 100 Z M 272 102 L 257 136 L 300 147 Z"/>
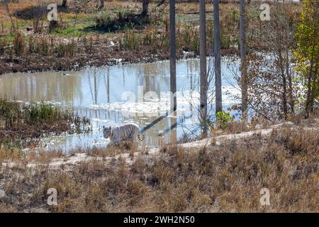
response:
<path id="1" fill-rule="evenodd" d="M 201 121 L 203 137 L 207 136 L 207 72 L 206 72 L 206 10 L 205 0 L 199 0 L 199 55 L 201 65 Z"/>

